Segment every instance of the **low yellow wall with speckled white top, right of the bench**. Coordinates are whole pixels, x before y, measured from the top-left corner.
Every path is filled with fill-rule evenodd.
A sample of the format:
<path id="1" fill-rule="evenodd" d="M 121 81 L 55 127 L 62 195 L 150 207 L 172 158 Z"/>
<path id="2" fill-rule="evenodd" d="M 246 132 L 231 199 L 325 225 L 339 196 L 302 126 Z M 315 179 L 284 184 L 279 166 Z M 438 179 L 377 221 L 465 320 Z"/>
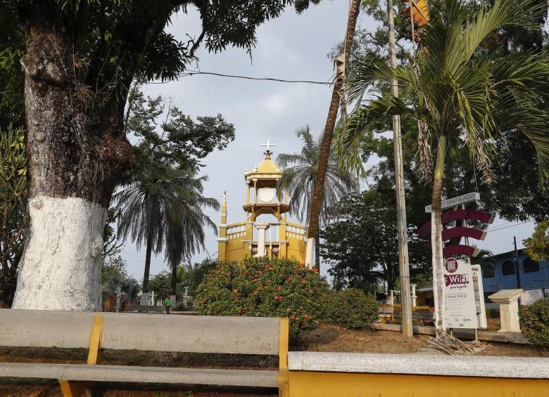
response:
<path id="1" fill-rule="evenodd" d="M 548 397 L 549 358 L 289 352 L 291 397 Z"/>

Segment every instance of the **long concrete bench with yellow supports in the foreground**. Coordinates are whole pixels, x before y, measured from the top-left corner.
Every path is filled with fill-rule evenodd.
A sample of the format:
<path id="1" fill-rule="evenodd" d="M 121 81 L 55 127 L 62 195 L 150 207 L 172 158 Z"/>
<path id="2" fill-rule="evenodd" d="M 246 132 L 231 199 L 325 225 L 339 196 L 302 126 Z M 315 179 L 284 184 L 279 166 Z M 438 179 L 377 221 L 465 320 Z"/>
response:
<path id="1" fill-rule="evenodd" d="M 2 378 L 57 379 L 65 397 L 94 383 L 278 389 L 288 396 L 287 318 L 0 309 L 0 346 L 89 349 L 87 364 L 0 363 Z M 100 365 L 100 349 L 279 356 L 278 370 Z"/>

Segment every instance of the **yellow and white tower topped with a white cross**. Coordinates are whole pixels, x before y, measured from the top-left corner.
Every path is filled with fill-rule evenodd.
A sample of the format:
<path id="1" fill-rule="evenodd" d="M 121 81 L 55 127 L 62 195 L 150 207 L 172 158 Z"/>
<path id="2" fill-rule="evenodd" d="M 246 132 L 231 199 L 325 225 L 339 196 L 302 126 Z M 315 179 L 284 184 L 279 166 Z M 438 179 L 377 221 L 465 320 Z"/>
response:
<path id="1" fill-rule="evenodd" d="M 227 192 L 221 207 L 221 223 L 217 259 L 220 261 L 243 261 L 245 258 L 263 257 L 291 259 L 305 263 L 305 226 L 286 221 L 289 211 L 286 191 L 277 194 L 277 181 L 282 170 L 271 160 L 267 139 L 265 160 L 255 165 L 252 171 L 244 172 L 246 183 L 246 221 L 227 224 Z M 258 219 L 260 218 L 260 219 Z"/>

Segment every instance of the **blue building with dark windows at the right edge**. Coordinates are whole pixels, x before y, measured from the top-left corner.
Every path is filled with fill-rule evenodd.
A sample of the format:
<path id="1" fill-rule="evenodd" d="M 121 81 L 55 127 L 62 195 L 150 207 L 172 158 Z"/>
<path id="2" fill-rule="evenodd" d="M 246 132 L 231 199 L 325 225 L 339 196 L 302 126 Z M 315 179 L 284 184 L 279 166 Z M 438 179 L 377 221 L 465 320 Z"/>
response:
<path id="1" fill-rule="evenodd" d="M 519 276 L 522 289 L 544 289 L 549 292 L 549 264 L 547 261 L 534 261 L 524 249 L 518 250 Z M 515 271 L 515 251 L 504 252 L 484 259 L 482 285 L 485 294 L 500 289 L 517 288 Z"/>

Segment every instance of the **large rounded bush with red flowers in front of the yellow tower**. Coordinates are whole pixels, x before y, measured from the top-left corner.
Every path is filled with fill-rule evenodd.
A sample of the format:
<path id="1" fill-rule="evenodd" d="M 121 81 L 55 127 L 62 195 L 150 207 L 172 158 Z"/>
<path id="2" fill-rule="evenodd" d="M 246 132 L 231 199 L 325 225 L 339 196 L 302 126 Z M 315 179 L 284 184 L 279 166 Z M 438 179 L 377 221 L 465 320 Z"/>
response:
<path id="1" fill-rule="evenodd" d="M 315 269 L 284 259 L 220 262 L 196 289 L 204 315 L 288 317 L 290 334 L 315 329 L 322 320 L 327 287 Z"/>

